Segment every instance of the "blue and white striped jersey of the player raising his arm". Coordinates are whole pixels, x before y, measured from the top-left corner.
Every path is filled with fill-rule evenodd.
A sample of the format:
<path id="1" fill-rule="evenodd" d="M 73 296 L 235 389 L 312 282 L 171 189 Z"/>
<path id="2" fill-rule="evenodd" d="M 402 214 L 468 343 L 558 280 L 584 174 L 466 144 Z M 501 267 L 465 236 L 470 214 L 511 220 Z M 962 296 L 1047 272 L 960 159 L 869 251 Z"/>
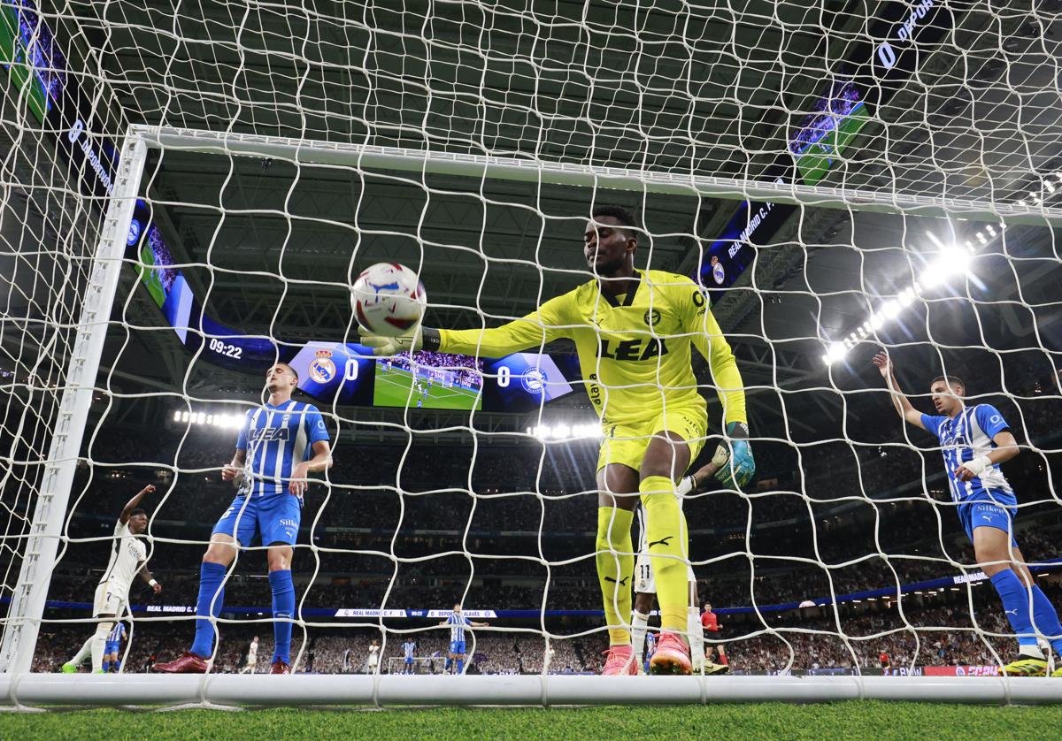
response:
<path id="1" fill-rule="evenodd" d="M 963 463 L 979 455 L 988 455 L 997 447 L 992 438 L 1003 430 L 1010 429 L 999 410 L 991 404 L 966 407 L 955 416 L 955 419 L 923 414 L 922 424 L 940 440 L 941 452 L 944 454 L 944 472 L 947 475 L 954 501 L 963 502 L 977 495 L 991 493 L 994 499 L 1010 498 L 1010 501 L 1000 503 L 1014 503 L 1014 492 L 998 464 L 989 466 L 980 476 L 970 481 L 961 481 L 956 476 L 956 471 Z"/>

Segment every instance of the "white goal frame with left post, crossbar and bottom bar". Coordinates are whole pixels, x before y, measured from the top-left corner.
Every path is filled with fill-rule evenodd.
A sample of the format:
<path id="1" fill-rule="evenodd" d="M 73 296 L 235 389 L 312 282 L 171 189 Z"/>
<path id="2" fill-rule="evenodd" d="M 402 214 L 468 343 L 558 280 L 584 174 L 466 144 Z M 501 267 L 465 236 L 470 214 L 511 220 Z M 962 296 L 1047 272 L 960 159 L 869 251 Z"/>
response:
<path id="1" fill-rule="evenodd" d="M 0 694 L 15 706 L 48 704 L 675 704 L 729 701 L 845 699 L 984 703 L 1062 702 L 1062 682 L 1009 677 L 585 677 L 585 676 L 134 676 L 34 674 L 30 671 L 48 585 L 63 537 L 87 411 L 100 367 L 126 232 L 151 148 L 230 157 L 285 159 L 296 165 L 444 173 L 584 188 L 627 189 L 724 199 L 758 199 L 847 210 L 989 220 L 1007 225 L 1062 225 L 1062 209 L 821 186 L 727 180 L 699 175 L 594 168 L 498 156 L 314 142 L 305 139 L 152 126 L 125 136 L 113 195 L 97 247 L 91 281 L 67 368 L 59 424 L 52 431 L 47 473 L 36 498 L 22 564 L 4 621 Z"/>

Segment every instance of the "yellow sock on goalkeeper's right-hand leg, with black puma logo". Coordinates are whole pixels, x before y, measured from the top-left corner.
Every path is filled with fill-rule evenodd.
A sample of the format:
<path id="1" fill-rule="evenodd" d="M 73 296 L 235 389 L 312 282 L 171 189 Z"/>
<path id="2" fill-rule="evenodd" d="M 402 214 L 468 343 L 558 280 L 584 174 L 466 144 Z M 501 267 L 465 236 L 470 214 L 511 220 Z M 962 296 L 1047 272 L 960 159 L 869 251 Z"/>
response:
<path id="1" fill-rule="evenodd" d="M 656 600 L 661 606 L 661 630 L 686 633 L 687 535 L 686 518 L 674 496 L 674 484 L 663 476 L 650 476 L 638 487 L 646 510 L 646 537 L 652 556 Z"/>

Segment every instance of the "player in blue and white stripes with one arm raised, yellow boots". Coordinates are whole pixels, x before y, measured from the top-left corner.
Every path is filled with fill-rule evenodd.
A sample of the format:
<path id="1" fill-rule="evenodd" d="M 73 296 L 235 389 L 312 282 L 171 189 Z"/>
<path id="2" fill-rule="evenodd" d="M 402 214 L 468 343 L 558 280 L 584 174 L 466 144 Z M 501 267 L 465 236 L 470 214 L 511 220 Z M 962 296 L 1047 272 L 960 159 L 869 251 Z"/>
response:
<path id="1" fill-rule="evenodd" d="M 1004 611 L 1017 637 L 1018 658 L 1004 667 L 1007 674 L 1039 676 L 1047 657 L 1038 645 L 1045 636 L 1062 656 L 1062 625 L 1058 613 L 1032 580 L 1014 538 L 1017 498 L 999 464 L 1018 454 L 1007 420 L 995 407 L 966 407 L 966 384 L 955 376 L 938 376 L 929 385 L 939 414 L 922 414 L 900 391 L 889 356 L 880 352 L 874 365 L 892 392 L 892 402 L 909 425 L 937 435 L 944 455 L 952 501 L 974 545 L 974 557 L 992 580 Z M 1033 623 L 1035 623 L 1033 625 Z M 1062 669 L 1052 676 L 1062 676 Z"/>

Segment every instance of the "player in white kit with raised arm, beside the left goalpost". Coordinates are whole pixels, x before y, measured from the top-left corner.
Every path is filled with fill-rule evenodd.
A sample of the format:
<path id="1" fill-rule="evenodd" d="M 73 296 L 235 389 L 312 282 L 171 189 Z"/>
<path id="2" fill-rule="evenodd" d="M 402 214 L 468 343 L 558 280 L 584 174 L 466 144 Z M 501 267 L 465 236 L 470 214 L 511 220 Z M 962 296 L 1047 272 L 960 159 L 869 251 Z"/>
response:
<path id="1" fill-rule="evenodd" d="M 148 559 L 148 549 L 137 537 L 148 529 L 148 513 L 137 505 L 144 496 L 154 492 L 155 487 L 151 484 L 140 489 L 126 502 L 118 522 L 115 523 L 110 561 L 99 586 L 96 587 L 96 598 L 92 601 L 92 617 L 99 621 L 96 634 L 85 641 L 76 656 L 63 665 L 63 671 L 68 674 L 78 671 L 78 667 L 89 654 L 92 656 L 92 672 L 103 671 L 103 649 L 107 642 L 107 635 L 129 603 L 130 586 L 134 576 L 139 574 L 140 579 L 151 585 L 156 594 L 162 591 L 162 585 L 152 578 L 151 571 L 144 564 Z"/>

